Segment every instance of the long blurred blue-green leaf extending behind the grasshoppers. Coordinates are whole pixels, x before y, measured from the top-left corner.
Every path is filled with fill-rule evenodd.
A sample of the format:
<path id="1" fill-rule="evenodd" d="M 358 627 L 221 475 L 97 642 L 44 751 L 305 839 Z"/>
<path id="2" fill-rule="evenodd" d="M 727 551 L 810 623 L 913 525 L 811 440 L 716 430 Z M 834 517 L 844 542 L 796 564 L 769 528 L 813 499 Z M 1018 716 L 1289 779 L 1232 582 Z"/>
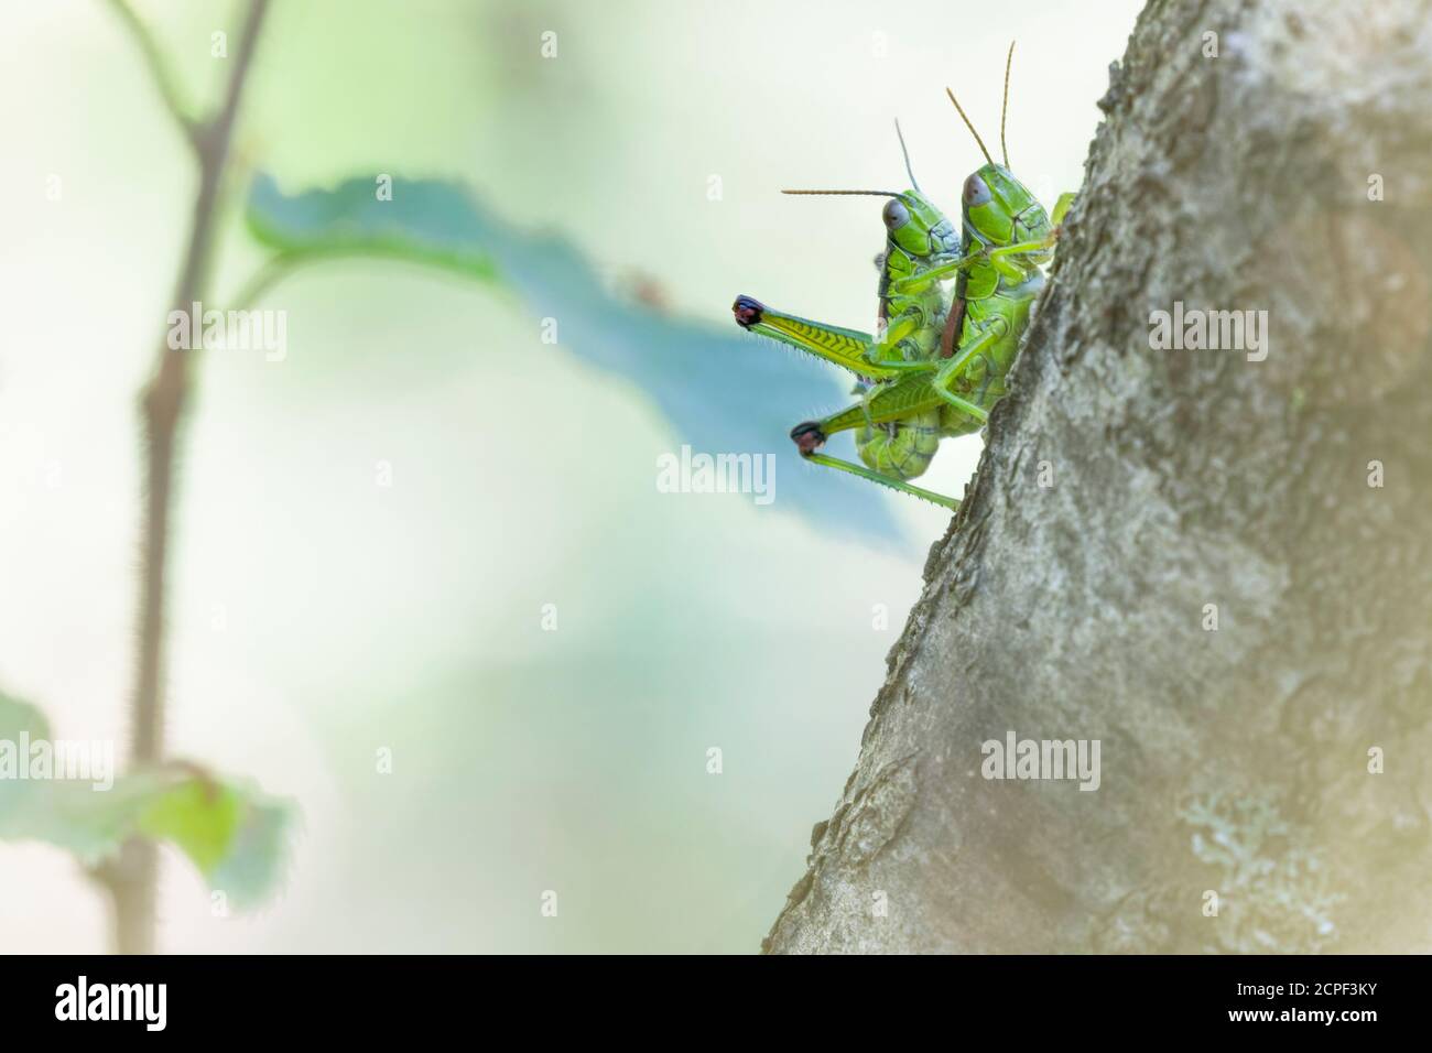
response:
<path id="1" fill-rule="evenodd" d="M 375 191 L 372 176 L 359 176 L 286 195 L 259 173 L 246 219 L 253 235 L 289 262 L 382 256 L 483 282 L 500 279 L 530 314 L 558 319 L 560 347 L 640 388 L 695 451 L 775 454 L 779 506 L 826 533 L 908 542 L 881 487 L 805 464 L 788 437 L 803 417 L 819 415 L 811 413 L 813 404 L 851 401 L 848 378 L 833 367 L 742 332 L 735 322 L 679 318 L 617 295 L 570 242 L 504 222 L 455 183 L 394 179 L 391 201 L 378 201 Z M 722 294 L 722 307 L 726 302 Z M 500 351 L 493 354 L 495 361 Z"/>

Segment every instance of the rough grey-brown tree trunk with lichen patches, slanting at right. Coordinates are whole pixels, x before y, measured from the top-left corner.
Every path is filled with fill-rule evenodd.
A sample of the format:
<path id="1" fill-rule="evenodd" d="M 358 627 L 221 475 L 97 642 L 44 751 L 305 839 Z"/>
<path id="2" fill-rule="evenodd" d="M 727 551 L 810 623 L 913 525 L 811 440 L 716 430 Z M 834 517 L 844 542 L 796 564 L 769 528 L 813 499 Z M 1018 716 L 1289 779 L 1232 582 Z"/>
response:
<path id="1" fill-rule="evenodd" d="M 1428 0 L 1148 4 L 768 951 L 1432 950 L 1429 56 Z"/>

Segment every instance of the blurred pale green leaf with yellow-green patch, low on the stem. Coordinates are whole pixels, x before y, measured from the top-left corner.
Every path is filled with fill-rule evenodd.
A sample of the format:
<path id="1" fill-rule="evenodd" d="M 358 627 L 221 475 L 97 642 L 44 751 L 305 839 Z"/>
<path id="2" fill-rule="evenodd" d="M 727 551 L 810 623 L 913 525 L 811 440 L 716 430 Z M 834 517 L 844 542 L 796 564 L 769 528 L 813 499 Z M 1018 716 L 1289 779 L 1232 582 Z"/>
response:
<path id="1" fill-rule="evenodd" d="M 34 706 L 0 695 L 0 840 L 44 841 L 93 867 L 135 835 L 168 841 L 236 907 L 276 887 L 292 807 L 221 782 L 189 764 L 96 778 L 17 778 L 34 742 L 50 739 Z M 52 742 L 53 745 L 53 742 Z"/>

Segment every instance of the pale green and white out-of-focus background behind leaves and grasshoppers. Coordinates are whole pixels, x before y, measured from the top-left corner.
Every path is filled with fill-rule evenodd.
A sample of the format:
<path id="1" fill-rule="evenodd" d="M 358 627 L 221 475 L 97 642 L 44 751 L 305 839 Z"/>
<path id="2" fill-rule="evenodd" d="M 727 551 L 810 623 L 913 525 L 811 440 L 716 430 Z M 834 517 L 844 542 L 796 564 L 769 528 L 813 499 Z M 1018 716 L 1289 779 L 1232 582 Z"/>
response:
<path id="1" fill-rule="evenodd" d="M 137 7 L 190 96 L 212 99 L 209 34 L 236 44 L 235 4 Z M 650 275 L 676 311 L 725 325 L 746 291 L 869 328 L 879 203 L 776 189 L 902 183 L 899 116 L 924 188 L 954 209 L 978 153 L 944 86 L 994 143 L 1018 37 L 1010 153 L 1053 203 L 1080 183 L 1138 4 L 274 7 L 238 146 L 285 188 L 457 178 L 613 281 Z M 3 10 L 0 686 L 56 735 L 123 741 L 133 395 L 195 172 L 106 4 Z M 231 219 L 216 297 L 261 258 Z M 304 824 L 284 894 L 256 914 L 211 917 L 172 860 L 160 946 L 755 950 L 855 761 L 947 517 L 889 499 L 916 544 L 882 552 L 783 510 L 779 480 L 769 507 L 659 494 L 670 425 L 490 289 L 339 264 L 265 305 L 288 312 L 286 361 L 216 352 L 199 370 L 168 726 L 172 752 L 292 795 Z M 792 423 L 821 408 L 809 368 Z M 978 453 L 947 443 L 925 484 L 961 493 Z M 384 746 L 392 775 L 375 772 Z M 106 905 L 70 860 L 0 845 L 0 950 L 106 946 Z"/>

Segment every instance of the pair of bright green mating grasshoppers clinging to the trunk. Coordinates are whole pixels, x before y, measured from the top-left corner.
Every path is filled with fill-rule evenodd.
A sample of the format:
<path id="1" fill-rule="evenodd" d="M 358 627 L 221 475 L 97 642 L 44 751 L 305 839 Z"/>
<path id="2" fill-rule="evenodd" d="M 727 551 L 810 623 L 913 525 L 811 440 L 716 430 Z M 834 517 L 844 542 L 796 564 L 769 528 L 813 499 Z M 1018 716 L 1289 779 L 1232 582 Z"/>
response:
<path id="1" fill-rule="evenodd" d="M 859 380 L 859 403 L 792 428 L 802 457 L 948 509 L 958 509 L 959 501 L 908 480 L 929 467 L 941 438 L 978 431 L 1004 395 L 1005 374 L 1044 287 L 1040 268 L 1053 258 L 1057 225 L 1074 198 L 1060 198 L 1051 222 L 1010 172 L 1004 117 L 1012 59 L 1010 44 L 1000 115 L 1004 165 L 994 163 L 954 92 L 945 89 L 988 162 L 965 179 L 962 238 L 915 182 L 904 135 L 909 191 L 785 191 L 889 198 L 882 212 L 886 245 L 878 258 L 875 335 L 798 318 L 746 295 L 732 305 L 742 328 L 835 362 Z M 895 130 L 899 135 L 898 123 Z M 952 298 L 939 285 L 948 278 L 957 279 Z M 832 434 L 853 428 L 859 428 L 855 448 L 863 466 L 816 453 Z"/>

